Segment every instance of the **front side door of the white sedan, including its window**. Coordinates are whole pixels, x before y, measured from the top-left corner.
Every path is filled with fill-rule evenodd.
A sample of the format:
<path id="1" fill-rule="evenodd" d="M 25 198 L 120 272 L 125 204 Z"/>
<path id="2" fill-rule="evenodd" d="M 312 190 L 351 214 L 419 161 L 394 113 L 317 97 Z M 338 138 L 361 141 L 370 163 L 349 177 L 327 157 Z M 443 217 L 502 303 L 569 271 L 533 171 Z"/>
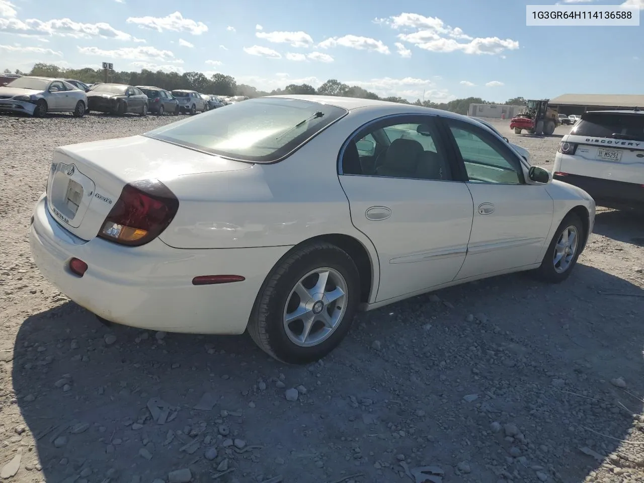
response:
<path id="1" fill-rule="evenodd" d="M 468 255 L 457 279 L 536 263 L 553 222 L 545 185 L 526 184 L 518 155 L 488 130 L 453 118 L 444 122 L 474 205 Z"/>

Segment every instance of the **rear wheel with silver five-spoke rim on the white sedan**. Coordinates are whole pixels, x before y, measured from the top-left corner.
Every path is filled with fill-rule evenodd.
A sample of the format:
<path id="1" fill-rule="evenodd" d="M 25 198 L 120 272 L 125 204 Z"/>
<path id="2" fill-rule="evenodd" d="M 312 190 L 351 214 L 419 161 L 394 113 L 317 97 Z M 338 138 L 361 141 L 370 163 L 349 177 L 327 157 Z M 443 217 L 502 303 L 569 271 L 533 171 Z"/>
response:
<path id="1" fill-rule="evenodd" d="M 286 254 L 264 281 L 248 331 L 275 359 L 307 364 L 331 352 L 349 331 L 359 303 L 352 258 L 326 242 Z"/>

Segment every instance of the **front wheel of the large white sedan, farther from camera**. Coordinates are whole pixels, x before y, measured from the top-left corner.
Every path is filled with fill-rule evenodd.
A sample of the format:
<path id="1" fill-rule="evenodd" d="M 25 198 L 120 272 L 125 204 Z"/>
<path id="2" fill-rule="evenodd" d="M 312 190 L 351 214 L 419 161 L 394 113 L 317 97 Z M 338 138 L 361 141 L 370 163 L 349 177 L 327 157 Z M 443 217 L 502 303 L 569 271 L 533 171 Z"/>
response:
<path id="1" fill-rule="evenodd" d="M 579 216 L 574 213 L 567 214 L 554 232 L 541 266 L 536 269 L 538 278 L 549 283 L 559 283 L 567 279 L 583 250 L 585 237 Z"/>

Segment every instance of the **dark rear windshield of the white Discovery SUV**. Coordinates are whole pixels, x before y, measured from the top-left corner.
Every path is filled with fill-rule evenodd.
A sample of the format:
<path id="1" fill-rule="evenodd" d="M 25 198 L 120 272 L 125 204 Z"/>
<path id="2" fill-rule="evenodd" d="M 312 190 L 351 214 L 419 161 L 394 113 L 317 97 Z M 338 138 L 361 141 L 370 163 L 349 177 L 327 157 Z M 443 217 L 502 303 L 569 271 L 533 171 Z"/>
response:
<path id="1" fill-rule="evenodd" d="M 585 113 L 571 134 L 644 141 L 644 113 Z"/>

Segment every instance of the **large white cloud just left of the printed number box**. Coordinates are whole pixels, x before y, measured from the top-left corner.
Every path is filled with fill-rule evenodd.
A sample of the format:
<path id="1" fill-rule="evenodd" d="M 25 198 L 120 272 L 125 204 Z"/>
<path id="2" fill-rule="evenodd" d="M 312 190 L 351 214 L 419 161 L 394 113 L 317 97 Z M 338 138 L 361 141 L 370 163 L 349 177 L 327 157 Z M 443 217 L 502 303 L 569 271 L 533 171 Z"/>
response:
<path id="1" fill-rule="evenodd" d="M 387 24 L 396 30 L 415 30 L 415 32 L 399 33 L 398 38 L 401 41 L 414 44 L 418 48 L 430 50 L 431 52 L 460 51 L 468 54 L 494 55 L 504 50 L 516 50 L 519 48 L 519 43 L 512 39 L 471 37 L 459 27 L 446 25 L 438 17 L 403 13 L 387 19 L 375 19 L 374 22 Z"/>

